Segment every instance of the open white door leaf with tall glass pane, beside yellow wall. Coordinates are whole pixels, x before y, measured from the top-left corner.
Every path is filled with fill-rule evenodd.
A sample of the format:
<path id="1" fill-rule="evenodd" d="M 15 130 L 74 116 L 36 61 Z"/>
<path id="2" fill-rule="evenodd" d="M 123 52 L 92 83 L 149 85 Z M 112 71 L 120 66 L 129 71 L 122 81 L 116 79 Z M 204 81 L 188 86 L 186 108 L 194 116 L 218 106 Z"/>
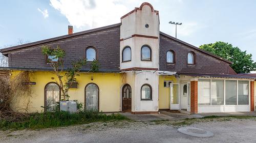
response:
<path id="1" fill-rule="evenodd" d="M 180 84 L 170 83 L 170 109 L 180 109 Z"/>

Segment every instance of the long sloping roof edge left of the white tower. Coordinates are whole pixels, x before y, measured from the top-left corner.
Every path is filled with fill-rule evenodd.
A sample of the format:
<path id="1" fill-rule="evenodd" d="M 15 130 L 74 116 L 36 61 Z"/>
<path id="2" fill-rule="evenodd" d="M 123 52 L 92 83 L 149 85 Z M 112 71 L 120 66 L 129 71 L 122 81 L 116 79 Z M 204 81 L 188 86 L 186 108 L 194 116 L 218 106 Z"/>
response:
<path id="1" fill-rule="evenodd" d="M 120 25 L 121 25 L 121 23 L 116 23 L 116 24 L 107 25 L 107 26 L 98 27 L 98 28 L 93 28 L 91 30 L 81 31 L 81 32 L 73 33 L 73 34 L 62 35 L 62 36 L 49 38 L 49 39 L 45 39 L 45 40 L 40 40 L 40 41 L 36 41 L 36 42 L 31 42 L 31 43 L 27 43 L 27 44 L 22 44 L 22 45 L 12 46 L 12 47 L 8 47 L 8 48 L 3 48 L 3 49 L 0 49 L 0 52 L 3 53 L 3 52 L 10 51 L 10 50 L 16 50 L 16 49 L 20 49 L 20 48 L 29 47 L 29 46 L 44 44 L 44 43 L 57 41 L 57 40 L 61 40 L 61 39 L 66 39 L 66 38 L 70 38 L 70 37 L 74 37 L 74 36 L 79 36 L 79 35 L 83 35 L 83 34 L 97 32 L 97 31 L 105 30 L 105 29 L 108 29 L 108 28 L 113 28 L 113 27 L 120 26 Z"/>

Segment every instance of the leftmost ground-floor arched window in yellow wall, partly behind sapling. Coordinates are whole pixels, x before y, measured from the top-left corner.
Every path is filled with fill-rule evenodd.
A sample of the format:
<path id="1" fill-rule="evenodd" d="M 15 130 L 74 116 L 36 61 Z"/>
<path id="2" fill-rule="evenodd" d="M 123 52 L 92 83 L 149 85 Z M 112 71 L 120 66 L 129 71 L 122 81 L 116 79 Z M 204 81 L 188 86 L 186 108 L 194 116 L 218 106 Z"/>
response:
<path id="1" fill-rule="evenodd" d="M 59 108 L 60 89 L 55 82 L 46 84 L 45 87 L 45 111 L 55 111 Z"/>

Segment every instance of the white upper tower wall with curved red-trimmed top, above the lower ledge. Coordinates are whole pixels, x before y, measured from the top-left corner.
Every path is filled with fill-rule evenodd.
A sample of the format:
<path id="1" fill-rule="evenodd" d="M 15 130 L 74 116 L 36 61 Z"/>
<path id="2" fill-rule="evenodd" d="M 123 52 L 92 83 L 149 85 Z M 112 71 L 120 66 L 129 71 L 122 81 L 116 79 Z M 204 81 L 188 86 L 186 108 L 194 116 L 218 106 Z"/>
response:
<path id="1" fill-rule="evenodd" d="M 159 15 L 152 12 L 148 5 L 144 5 L 142 10 L 137 10 L 121 19 L 120 29 L 120 69 L 127 68 L 158 68 L 159 67 Z M 146 28 L 145 24 L 149 27 Z M 158 37 L 132 37 L 132 35 L 143 35 Z M 129 38 L 130 37 L 130 38 Z M 127 38 L 127 39 L 126 39 Z M 141 47 L 148 45 L 152 49 L 152 61 L 141 61 Z M 131 47 L 132 58 L 130 62 L 122 63 L 122 50 L 125 46 Z"/>

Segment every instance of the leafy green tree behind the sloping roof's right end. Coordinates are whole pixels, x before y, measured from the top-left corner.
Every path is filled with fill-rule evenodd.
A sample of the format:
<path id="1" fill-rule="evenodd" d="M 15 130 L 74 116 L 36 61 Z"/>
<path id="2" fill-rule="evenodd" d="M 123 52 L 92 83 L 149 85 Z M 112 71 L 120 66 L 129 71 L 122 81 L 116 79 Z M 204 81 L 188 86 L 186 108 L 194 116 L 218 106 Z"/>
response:
<path id="1" fill-rule="evenodd" d="M 199 48 L 231 61 L 230 66 L 237 73 L 249 73 L 256 69 L 256 63 L 251 58 L 252 55 L 231 44 L 219 41 L 201 45 Z"/>

